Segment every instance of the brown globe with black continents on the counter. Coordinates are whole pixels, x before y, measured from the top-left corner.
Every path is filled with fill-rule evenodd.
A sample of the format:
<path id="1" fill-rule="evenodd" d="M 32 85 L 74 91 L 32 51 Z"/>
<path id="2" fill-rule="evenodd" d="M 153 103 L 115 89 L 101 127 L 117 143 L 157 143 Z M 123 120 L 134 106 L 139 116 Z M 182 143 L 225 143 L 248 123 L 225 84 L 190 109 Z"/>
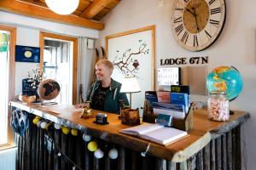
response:
<path id="1" fill-rule="evenodd" d="M 60 85 L 52 79 L 46 79 L 38 85 L 38 95 L 42 99 L 55 99 L 60 94 Z"/>

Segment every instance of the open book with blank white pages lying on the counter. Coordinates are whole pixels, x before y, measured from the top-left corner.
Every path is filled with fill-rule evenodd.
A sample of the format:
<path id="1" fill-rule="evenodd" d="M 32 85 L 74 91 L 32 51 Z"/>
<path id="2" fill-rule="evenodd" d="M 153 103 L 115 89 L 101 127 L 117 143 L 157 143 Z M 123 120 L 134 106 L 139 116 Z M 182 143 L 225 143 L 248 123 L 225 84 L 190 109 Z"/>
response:
<path id="1" fill-rule="evenodd" d="M 120 133 L 129 134 L 132 136 L 137 136 L 141 139 L 146 139 L 157 144 L 171 144 L 172 142 L 182 139 L 187 132 L 183 130 L 178 130 L 172 127 L 164 127 L 159 124 L 144 123 L 136 127 L 129 127 L 122 129 Z"/>

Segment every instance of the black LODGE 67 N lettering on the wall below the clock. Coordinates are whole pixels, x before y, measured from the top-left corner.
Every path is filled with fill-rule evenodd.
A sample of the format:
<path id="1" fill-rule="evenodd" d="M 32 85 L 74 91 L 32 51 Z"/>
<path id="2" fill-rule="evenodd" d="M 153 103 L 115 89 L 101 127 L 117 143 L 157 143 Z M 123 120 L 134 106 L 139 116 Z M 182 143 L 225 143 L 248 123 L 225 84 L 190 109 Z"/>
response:
<path id="1" fill-rule="evenodd" d="M 160 65 L 205 65 L 205 64 L 208 64 L 208 56 L 191 57 L 189 59 L 185 57 L 160 59 Z"/>

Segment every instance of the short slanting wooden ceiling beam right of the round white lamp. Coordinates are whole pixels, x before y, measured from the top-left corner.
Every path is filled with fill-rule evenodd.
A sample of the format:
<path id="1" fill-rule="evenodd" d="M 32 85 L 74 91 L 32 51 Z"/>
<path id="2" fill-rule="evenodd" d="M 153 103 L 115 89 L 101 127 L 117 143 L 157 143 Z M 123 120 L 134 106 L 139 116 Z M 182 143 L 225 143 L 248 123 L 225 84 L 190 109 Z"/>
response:
<path id="1" fill-rule="evenodd" d="M 85 8 L 84 12 L 80 14 L 80 16 L 86 19 L 92 19 L 112 1 L 113 0 L 94 0 L 88 8 Z"/>

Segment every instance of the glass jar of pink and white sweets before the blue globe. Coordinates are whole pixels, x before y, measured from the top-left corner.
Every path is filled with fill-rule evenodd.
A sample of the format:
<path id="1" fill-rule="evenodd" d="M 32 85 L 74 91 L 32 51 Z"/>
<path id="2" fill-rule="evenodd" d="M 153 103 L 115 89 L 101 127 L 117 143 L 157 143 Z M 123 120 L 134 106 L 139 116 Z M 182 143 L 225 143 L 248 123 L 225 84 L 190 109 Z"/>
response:
<path id="1" fill-rule="evenodd" d="M 230 109 L 229 99 L 220 91 L 212 91 L 208 98 L 208 117 L 213 121 L 229 121 Z"/>

